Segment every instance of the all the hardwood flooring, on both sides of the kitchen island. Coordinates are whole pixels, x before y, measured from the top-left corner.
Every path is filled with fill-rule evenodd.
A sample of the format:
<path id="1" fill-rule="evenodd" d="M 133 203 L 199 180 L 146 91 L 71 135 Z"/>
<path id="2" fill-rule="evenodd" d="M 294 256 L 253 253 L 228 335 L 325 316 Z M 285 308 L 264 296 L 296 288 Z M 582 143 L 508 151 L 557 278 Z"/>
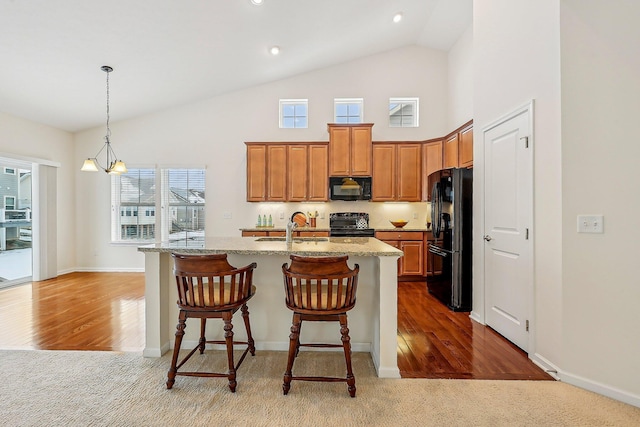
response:
<path id="1" fill-rule="evenodd" d="M 398 289 L 403 378 L 552 379 L 490 328 L 431 297 Z M 0 290 L 0 349 L 142 351 L 144 274 L 70 273 Z"/>

